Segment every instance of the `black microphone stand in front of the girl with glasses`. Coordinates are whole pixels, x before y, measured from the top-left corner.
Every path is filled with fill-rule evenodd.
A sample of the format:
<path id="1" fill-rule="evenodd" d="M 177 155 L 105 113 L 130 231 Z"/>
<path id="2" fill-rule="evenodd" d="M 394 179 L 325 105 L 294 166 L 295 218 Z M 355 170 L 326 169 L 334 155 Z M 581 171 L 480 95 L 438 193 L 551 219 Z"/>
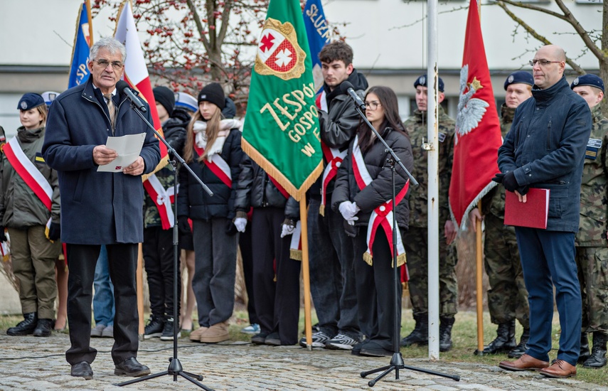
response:
<path id="1" fill-rule="evenodd" d="M 354 99 L 353 99 L 354 101 Z M 446 373 L 440 373 L 440 372 L 435 372 L 434 370 L 427 370 L 424 368 L 416 368 L 416 367 L 410 367 L 409 365 L 405 365 L 403 363 L 403 358 L 401 355 L 401 351 L 400 351 L 400 317 L 397 316 L 397 314 L 400 314 L 400 306 L 399 306 L 399 297 L 400 297 L 400 292 L 397 289 L 397 286 L 400 286 L 400 282 L 399 282 L 399 274 L 398 274 L 398 267 L 397 267 L 397 235 L 401 235 L 399 231 L 399 227 L 397 226 L 397 205 L 395 203 L 395 164 L 399 164 L 399 166 L 401 166 L 402 170 L 405 171 L 405 173 L 407 174 L 408 177 L 410 177 L 410 181 L 412 182 L 412 184 L 414 186 L 418 186 L 418 182 L 416 181 L 416 178 L 414 178 L 412 176 L 412 174 L 410 173 L 410 171 L 407 171 L 407 168 L 405 168 L 405 166 L 403 165 L 403 163 L 401 162 L 401 159 L 399 159 L 399 157 L 397 156 L 397 154 L 395 154 L 395 151 L 393 151 L 392 148 L 390 148 L 390 146 L 388 146 L 388 144 L 386 144 L 385 139 L 382 138 L 382 136 L 380 136 L 380 133 L 378 133 L 378 131 L 373 127 L 373 125 L 369 122 L 368 118 L 366 117 L 365 114 L 363 114 L 363 112 L 361 111 L 361 107 L 359 107 L 356 102 L 355 102 L 355 109 L 356 111 L 359 113 L 359 115 L 361 116 L 361 118 L 363 118 L 363 121 L 366 122 L 366 124 L 368 124 L 368 127 L 370 127 L 370 129 L 372 129 L 372 132 L 375 134 L 376 137 L 378 137 L 378 140 L 380 140 L 380 142 L 384 145 L 385 147 L 385 151 L 387 151 L 390 156 L 386 159 L 386 163 L 387 166 L 390 166 L 390 171 L 391 171 L 391 185 L 393 186 L 393 304 L 394 304 L 394 311 L 395 311 L 395 318 L 393 319 L 393 357 L 390 358 L 390 363 L 389 365 L 385 365 L 383 367 L 380 368 L 375 368 L 373 370 L 366 370 L 361 372 L 361 377 L 366 377 L 367 375 L 371 375 L 372 373 L 378 373 L 378 372 L 382 372 L 380 373 L 380 375 L 378 375 L 377 377 L 375 377 L 375 379 L 370 380 L 368 382 L 368 386 L 373 387 L 375 385 L 376 382 L 378 382 L 378 380 L 382 379 L 383 377 L 385 377 L 386 375 L 388 375 L 390 373 L 390 371 L 395 370 L 395 379 L 399 380 L 399 370 L 400 369 L 409 369 L 409 370 L 416 370 L 417 372 L 422 372 L 422 373 L 428 373 L 430 375 L 437 375 L 437 376 L 442 376 L 442 377 L 449 377 L 450 379 L 459 381 L 460 380 L 460 376 L 458 375 L 447 375 Z"/>

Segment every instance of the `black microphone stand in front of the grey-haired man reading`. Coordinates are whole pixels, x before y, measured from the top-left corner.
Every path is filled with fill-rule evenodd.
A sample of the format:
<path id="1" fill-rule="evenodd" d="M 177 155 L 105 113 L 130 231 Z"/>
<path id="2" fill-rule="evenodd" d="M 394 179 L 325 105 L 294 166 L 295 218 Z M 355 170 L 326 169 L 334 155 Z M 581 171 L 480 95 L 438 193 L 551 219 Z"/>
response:
<path id="1" fill-rule="evenodd" d="M 205 191 L 208 193 L 208 195 L 213 195 L 213 193 L 209 190 L 209 188 L 206 186 L 205 183 L 203 183 L 203 181 L 201 181 L 201 178 L 198 178 L 198 176 L 196 176 L 196 174 L 192 171 L 192 169 L 190 167 L 188 167 L 188 165 L 186 164 L 185 161 L 183 161 L 183 159 L 181 158 L 181 156 L 179 156 L 179 154 L 175 151 L 175 149 L 173 149 L 173 147 L 171 145 L 169 145 L 169 143 L 164 139 L 163 136 L 161 136 L 161 134 L 159 134 L 159 132 L 156 131 L 156 129 L 154 129 L 154 126 L 152 126 L 150 124 L 150 122 L 148 122 L 148 120 L 144 117 L 144 114 L 142 114 L 142 112 L 139 111 L 139 109 L 137 108 L 136 105 L 134 105 L 134 103 L 131 103 L 131 108 L 133 109 L 134 112 L 137 113 L 137 115 L 139 115 L 139 117 L 146 123 L 146 125 L 148 125 L 148 127 L 150 129 L 152 129 L 152 131 L 154 132 L 154 134 L 156 134 L 156 137 L 159 138 L 159 140 L 166 145 L 167 147 L 167 153 L 169 154 L 169 156 L 174 156 L 174 159 L 177 160 L 177 162 L 175 160 L 170 160 L 169 163 L 171 164 L 171 169 L 173 171 L 173 183 L 174 183 L 174 189 L 175 189 L 175 197 L 174 197 L 174 216 L 173 216 L 173 220 L 174 220 L 174 224 L 173 224 L 173 296 L 174 296 L 174 306 L 173 306 L 173 318 L 174 318 L 174 328 L 173 328 L 173 357 L 169 358 L 169 368 L 167 368 L 167 370 L 164 370 L 162 372 L 159 373 L 153 373 L 151 375 L 147 375 L 144 377 L 138 377 L 137 379 L 133 379 L 133 380 L 129 380 L 127 382 L 120 382 L 117 384 L 117 386 L 122 387 L 124 385 L 130 385 L 130 384 L 134 384 L 137 382 L 144 382 L 146 380 L 150 380 L 150 379 L 154 379 L 154 377 L 161 377 L 164 375 L 169 375 L 169 376 L 173 376 L 173 381 L 176 382 L 177 381 L 177 377 L 181 376 L 184 379 L 192 382 L 193 384 L 197 385 L 198 387 L 201 387 L 203 390 L 207 390 L 207 391 L 213 391 L 213 388 L 209 388 L 206 387 L 206 385 L 203 385 L 201 382 L 198 382 L 197 380 L 203 380 L 203 376 L 202 375 L 196 375 L 194 373 L 189 373 L 183 370 L 181 363 L 179 362 L 179 359 L 177 358 L 177 333 L 178 333 L 178 328 L 179 328 L 179 314 L 177 313 L 177 309 L 178 309 L 178 227 L 177 227 L 177 197 L 178 197 L 178 191 L 177 191 L 177 167 L 178 164 L 181 164 L 184 168 L 186 168 L 186 170 L 188 170 L 188 172 L 190 173 L 190 175 L 196 179 L 196 181 L 198 181 L 198 183 L 201 184 L 201 186 L 203 186 L 203 189 L 205 189 Z M 195 380 L 196 379 L 196 380 Z"/>

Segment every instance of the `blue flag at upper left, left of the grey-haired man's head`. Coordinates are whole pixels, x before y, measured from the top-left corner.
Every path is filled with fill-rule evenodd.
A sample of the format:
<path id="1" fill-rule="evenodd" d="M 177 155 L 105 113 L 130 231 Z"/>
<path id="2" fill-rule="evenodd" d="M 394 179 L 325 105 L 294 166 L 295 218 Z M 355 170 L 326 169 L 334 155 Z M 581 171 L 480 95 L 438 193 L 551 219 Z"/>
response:
<path id="1" fill-rule="evenodd" d="M 91 36 L 89 30 L 89 12 L 87 2 L 80 5 L 80 16 L 76 24 L 76 36 L 74 37 L 74 47 L 72 50 L 72 66 L 70 67 L 70 77 L 68 88 L 80 85 L 89 78 L 89 51 Z"/>

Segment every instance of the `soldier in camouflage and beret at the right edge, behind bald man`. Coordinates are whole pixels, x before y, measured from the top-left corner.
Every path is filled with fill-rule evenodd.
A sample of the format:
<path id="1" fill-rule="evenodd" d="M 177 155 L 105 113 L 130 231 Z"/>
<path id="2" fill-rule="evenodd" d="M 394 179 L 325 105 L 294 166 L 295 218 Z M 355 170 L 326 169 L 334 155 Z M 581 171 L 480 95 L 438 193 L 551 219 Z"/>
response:
<path id="1" fill-rule="evenodd" d="M 604 82 L 596 75 L 582 75 L 570 85 L 591 109 L 593 124 L 587 144 L 580 189 L 580 228 L 575 237 L 578 279 L 582 296 L 582 333 L 579 363 L 585 368 L 606 365 L 608 340 L 608 119 L 599 102 Z M 587 333 L 593 333 L 590 354 Z"/>

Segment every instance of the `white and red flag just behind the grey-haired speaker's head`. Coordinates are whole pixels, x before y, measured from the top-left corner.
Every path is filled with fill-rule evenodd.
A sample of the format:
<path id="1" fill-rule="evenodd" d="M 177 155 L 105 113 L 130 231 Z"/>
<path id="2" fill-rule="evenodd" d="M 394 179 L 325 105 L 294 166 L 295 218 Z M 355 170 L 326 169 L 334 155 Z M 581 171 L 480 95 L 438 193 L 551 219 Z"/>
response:
<path id="1" fill-rule="evenodd" d="M 159 113 L 156 112 L 154 92 L 152 92 L 148 67 L 144 60 L 142 43 L 139 41 L 139 36 L 137 36 L 132 4 L 129 0 L 124 1 L 118 10 L 114 38 L 127 48 L 127 58 L 124 60 L 124 81 L 128 82 L 134 90 L 139 92 L 140 98 L 148 102 L 154 128 L 160 134 L 163 134 Z M 159 147 L 161 149 L 161 162 L 158 167 L 161 168 L 166 166 L 169 158 L 165 144 L 159 141 Z"/>

